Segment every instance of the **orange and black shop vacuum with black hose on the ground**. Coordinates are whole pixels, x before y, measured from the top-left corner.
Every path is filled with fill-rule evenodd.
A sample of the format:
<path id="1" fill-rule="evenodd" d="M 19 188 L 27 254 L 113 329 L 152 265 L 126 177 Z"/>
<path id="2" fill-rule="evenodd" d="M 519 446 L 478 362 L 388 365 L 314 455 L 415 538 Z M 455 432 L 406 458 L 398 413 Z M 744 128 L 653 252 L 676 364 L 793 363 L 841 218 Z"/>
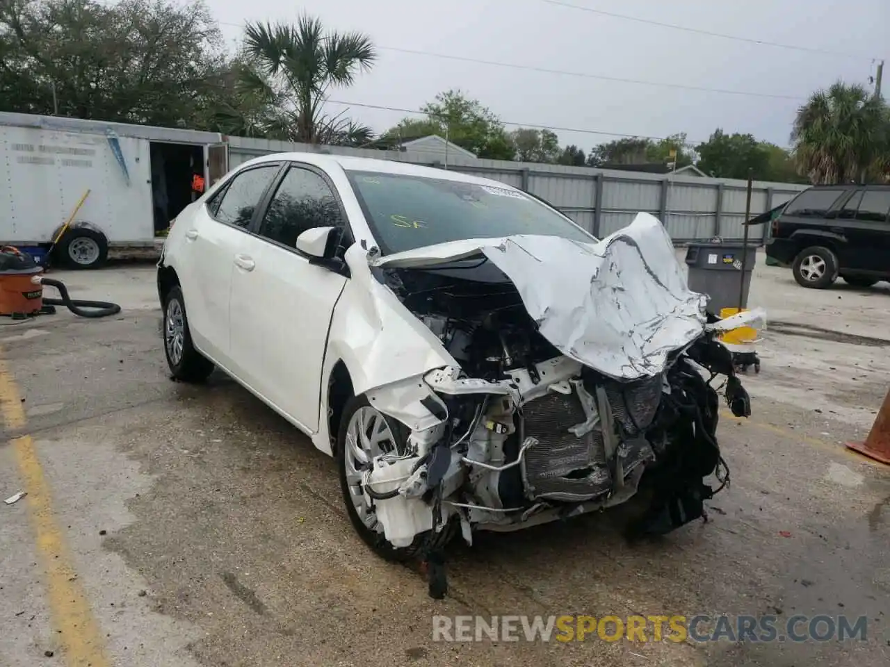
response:
<path id="1" fill-rule="evenodd" d="M 120 312 L 117 303 L 71 299 L 58 280 L 43 276 L 44 269 L 31 255 L 12 245 L 0 247 L 0 316 L 24 320 L 51 315 L 65 306 L 80 317 L 107 317 Z M 44 285 L 59 290 L 61 299 L 44 298 Z"/>

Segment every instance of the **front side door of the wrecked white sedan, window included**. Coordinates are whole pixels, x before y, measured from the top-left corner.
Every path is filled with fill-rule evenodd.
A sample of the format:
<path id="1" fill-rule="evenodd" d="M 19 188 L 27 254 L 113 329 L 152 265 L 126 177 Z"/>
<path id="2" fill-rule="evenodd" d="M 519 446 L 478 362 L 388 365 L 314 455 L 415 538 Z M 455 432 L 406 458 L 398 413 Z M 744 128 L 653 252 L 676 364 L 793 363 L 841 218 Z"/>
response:
<path id="1" fill-rule="evenodd" d="M 306 430 L 319 426 L 321 368 L 346 278 L 309 263 L 296 237 L 312 227 L 345 229 L 328 181 L 291 165 L 243 239 L 231 287 L 231 350 L 245 382 Z M 240 265 L 239 265 L 240 262 Z"/>

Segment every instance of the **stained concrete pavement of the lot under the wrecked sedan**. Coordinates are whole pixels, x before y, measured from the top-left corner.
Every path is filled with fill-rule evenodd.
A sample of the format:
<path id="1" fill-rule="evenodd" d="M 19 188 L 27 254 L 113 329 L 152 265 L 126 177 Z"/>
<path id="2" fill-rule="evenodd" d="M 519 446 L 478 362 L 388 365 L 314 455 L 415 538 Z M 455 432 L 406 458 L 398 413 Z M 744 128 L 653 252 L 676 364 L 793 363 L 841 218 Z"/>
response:
<path id="1" fill-rule="evenodd" d="M 437 602 L 353 534 L 306 438 L 223 376 L 168 379 L 151 267 L 53 277 L 124 312 L 0 328 L 0 495 L 29 492 L 0 504 L 3 667 L 890 662 L 890 475 L 840 444 L 870 427 L 890 359 L 837 335 L 890 331 L 886 290 L 758 267 L 752 305 L 833 333 L 766 333 L 754 415 L 720 427 L 732 484 L 710 521 L 633 546 L 621 510 L 481 535 L 452 550 Z M 432 641 L 433 615 L 505 614 L 869 624 L 864 642 Z"/>

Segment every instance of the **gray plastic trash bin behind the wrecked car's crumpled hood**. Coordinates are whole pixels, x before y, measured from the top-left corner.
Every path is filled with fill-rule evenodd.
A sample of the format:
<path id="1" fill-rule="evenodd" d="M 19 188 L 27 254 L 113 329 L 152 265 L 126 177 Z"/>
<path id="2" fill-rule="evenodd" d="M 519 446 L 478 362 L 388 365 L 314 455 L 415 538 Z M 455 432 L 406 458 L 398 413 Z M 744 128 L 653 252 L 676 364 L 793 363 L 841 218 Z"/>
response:
<path id="1" fill-rule="evenodd" d="M 739 289 L 742 253 L 741 241 L 692 241 L 686 250 L 689 269 L 689 288 L 692 292 L 708 294 L 708 311 L 716 316 L 724 308 L 739 308 Z M 741 308 L 748 308 L 748 290 L 757 259 L 757 245 L 748 243 L 745 261 L 744 287 Z"/>

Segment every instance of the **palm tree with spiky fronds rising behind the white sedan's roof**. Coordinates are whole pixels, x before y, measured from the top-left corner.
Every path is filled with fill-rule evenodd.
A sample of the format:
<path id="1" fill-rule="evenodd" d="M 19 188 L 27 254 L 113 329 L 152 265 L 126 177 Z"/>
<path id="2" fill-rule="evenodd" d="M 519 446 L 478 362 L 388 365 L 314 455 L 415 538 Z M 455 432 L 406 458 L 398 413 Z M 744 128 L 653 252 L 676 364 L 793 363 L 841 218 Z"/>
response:
<path id="1" fill-rule="evenodd" d="M 331 88 L 352 85 L 373 66 L 377 54 L 368 36 L 326 33 L 320 20 L 306 15 L 295 26 L 248 23 L 244 57 L 242 92 L 270 100 L 274 109 L 265 119 L 269 136 L 304 143 L 370 137 L 369 128 L 330 117 L 322 108 Z"/>

